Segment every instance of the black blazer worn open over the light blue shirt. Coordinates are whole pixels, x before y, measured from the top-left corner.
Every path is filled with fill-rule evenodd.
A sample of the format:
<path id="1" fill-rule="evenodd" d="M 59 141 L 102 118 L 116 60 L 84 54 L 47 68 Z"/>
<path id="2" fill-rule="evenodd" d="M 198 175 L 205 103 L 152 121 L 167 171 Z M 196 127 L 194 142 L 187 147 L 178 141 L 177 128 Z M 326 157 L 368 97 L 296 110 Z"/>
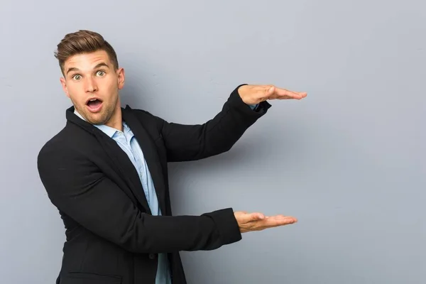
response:
<path id="1" fill-rule="evenodd" d="M 38 172 L 65 224 L 61 284 L 153 284 L 158 253 L 168 253 L 173 283 L 186 283 L 179 251 L 218 249 L 241 239 L 231 208 L 172 217 L 168 162 L 229 151 L 271 107 L 256 111 L 238 87 L 213 119 L 168 123 L 147 111 L 122 110 L 141 145 L 164 216 L 152 216 L 136 169 L 116 142 L 66 111 L 67 124 L 38 154 Z"/>

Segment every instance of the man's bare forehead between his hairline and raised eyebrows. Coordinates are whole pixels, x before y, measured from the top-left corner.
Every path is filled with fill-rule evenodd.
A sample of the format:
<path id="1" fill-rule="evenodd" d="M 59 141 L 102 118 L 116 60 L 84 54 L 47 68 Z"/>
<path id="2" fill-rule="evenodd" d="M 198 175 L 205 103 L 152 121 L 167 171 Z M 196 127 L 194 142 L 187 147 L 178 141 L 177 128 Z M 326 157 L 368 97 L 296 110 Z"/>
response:
<path id="1" fill-rule="evenodd" d="M 100 62 L 110 65 L 109 56 L 104 50 L 98 50 L 93 53 L 80 53 L 72 55 L 70 58 L 65 60 L 64 69 L 65 71 L 70 68 L 77 68 L 79 70 L 89 70 Z"/>

